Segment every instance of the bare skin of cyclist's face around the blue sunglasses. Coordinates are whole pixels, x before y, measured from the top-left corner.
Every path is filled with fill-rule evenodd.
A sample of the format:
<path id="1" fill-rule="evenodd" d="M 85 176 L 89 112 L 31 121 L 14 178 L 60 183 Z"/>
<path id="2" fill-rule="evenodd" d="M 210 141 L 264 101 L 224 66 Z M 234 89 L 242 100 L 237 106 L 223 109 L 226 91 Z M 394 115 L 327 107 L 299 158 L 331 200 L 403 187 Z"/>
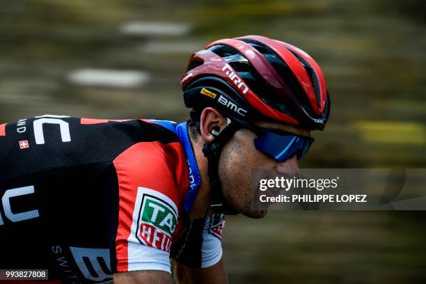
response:
<path id="1" fill-rule="evenodd" d="M 259 122 L 260 127 L 281 129 L 303 136 L 310 136 L 306 129 L 280 123 Z M 223 147 L 219 159 L 219 176 L 223 187 L 223 195 L 239 213 L 252 218 L 265 216 L 267 210 L 252 210 L 251 173 L 255 168 L 276 171 L 290 176 L 297 175 L 299 166 L 294 156 L 283 162 L 265 155 L 257 150 L 253 140 L 255 134 L 241 129 L 232 136 L 232 139 Z"/>

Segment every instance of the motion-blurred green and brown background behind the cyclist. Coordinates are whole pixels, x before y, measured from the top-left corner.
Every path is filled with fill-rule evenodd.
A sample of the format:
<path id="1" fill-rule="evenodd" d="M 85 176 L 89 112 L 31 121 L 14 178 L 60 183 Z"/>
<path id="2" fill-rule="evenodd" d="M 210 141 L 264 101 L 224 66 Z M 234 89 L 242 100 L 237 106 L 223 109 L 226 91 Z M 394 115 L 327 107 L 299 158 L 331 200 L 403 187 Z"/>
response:
<path id="1" fill-rule="evenodd" d="M 313 56 L 331 118 L 305 168 L 426 168 L 426 1 L 1 0 L 0 123 L 31 116 L 186 120 L 180 76 L 219 38 Z M 230 283 L 425 283 L 421 212 L 228 218 Z"/>

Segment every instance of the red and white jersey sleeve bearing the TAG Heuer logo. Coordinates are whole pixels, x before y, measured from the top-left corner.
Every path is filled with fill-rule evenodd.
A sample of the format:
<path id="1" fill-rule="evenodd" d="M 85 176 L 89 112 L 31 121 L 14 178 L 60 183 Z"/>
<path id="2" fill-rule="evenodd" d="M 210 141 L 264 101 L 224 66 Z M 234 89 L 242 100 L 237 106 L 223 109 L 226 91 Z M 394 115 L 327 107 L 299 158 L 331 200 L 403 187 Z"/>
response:
<path id="1" fill-rule="evenodd" d="M 177 176 L 182 173 L 171 166 L 181 163 L 171 161 L 180 159 L 179 155 L 170 153 L 178 146 L 156 141 L 136 143 L 113 161 L 119 186 L 117 272 L 171 273 L 171 239 L 182 198 Z"/>

